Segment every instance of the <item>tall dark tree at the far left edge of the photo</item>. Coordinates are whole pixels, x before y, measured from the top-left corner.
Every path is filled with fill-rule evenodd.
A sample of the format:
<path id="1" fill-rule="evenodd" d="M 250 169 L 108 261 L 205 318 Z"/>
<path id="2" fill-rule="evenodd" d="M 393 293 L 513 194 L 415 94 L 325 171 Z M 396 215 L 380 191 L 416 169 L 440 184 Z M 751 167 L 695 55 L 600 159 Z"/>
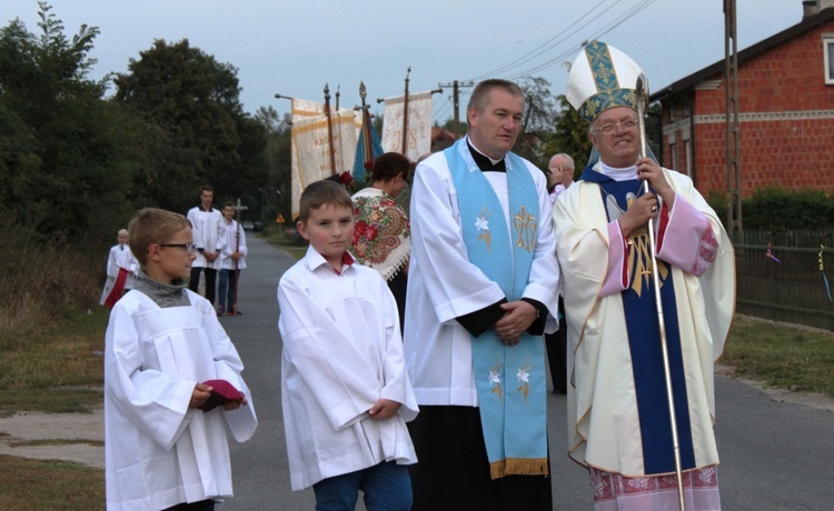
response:
<path id="1" fill-rule="evenodd" d="M 47 3 L 39 37 L 16 19 L 0 31 L 0 201 L 44 239 L 78 239 L 123 218 L 133 166 L 119 123 L 87 79 L 99 30 L 81 26 L 69 40 Z"/>

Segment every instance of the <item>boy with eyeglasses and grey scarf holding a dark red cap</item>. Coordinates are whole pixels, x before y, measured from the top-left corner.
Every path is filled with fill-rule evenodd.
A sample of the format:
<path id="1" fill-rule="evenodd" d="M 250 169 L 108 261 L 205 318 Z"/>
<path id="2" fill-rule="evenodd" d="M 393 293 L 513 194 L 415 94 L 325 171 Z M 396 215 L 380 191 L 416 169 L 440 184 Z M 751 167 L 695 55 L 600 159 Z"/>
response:
<path id="1" fill-rule="evenodd" d="M 242 442 L 258 424 L 244 364 L 211 303 L 186 288 L 188 219 L 147 208 L 128 229 L 142 270 L 106 334 L 107 508 L 212 510 L 232 497 L 226 430 Z"/>

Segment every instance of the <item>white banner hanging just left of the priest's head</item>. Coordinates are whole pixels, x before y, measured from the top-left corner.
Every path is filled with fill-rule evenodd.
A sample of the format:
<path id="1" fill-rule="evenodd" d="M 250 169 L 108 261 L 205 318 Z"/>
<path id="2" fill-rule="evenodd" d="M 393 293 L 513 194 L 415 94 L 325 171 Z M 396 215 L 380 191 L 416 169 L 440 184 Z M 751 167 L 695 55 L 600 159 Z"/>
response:
<path id="1" fill-rule="evenodd" d="M 406 119 L 406 136 L 403 134 L 403 113 L 405 96 L 385 99 L 385 118 L 380 136 L 385 152 L 403 152 L 405 139 L 405 156 L 417 161 L 423 154 L 431 151 L 431 92 L 408 94 L 408 117 Z"/>

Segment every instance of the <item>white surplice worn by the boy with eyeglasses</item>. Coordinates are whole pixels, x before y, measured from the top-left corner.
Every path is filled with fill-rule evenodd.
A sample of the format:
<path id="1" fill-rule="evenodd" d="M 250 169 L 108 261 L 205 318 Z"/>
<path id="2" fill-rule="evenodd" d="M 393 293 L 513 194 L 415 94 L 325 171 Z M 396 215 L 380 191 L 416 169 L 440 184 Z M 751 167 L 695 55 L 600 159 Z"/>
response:
<path id="1" fill-rule="evenodd" d="M 211 304 L 159 308 L 140 291 L 113 307 L 105 348 L 108 510 L 160 510 L 231 497 L 226 439 L 248 440 L 258 421 L 244 364 Z M 248 405 L 189 409 L 195 384 L 222 379 Z"/>

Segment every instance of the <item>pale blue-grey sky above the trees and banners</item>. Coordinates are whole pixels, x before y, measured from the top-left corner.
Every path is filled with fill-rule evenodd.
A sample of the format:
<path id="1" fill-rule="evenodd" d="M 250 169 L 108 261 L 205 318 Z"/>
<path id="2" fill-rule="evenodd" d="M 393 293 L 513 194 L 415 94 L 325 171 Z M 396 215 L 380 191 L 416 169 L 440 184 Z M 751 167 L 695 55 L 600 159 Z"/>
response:
<path id="1" fill-rule="evenodd" d="M 238 69 L 244 108 L 289 111 L 276 92 L 340 107 L 359 104 L 359 81 L 377 98 L 438 83 L 524 76 L 565 92 L 565 61 L 588 39 L 629 54 L 659 90 L 724 58 L 722 0 L 53 0 L 71 37 L 98 27 L 90 78 L 127 72 L 156 39 L 191 47 Z M 802 0 L 737 0 L 738 50 L 802 20 Z M 0 21 L 38 33 L 36 0 L 2 0 Z M 471 89 L 465 89 L 468 91 Z M 112 92 L 112 90 L 111 90 Z M 463 104 L 468 96 L 461 97 Z M 435 121 L 453 116 L 451 90 L 435 96 Z M 335 98 L 331 99 L 335 102 Z M 464 116 L 461 107 L 461 116 Z"/>

